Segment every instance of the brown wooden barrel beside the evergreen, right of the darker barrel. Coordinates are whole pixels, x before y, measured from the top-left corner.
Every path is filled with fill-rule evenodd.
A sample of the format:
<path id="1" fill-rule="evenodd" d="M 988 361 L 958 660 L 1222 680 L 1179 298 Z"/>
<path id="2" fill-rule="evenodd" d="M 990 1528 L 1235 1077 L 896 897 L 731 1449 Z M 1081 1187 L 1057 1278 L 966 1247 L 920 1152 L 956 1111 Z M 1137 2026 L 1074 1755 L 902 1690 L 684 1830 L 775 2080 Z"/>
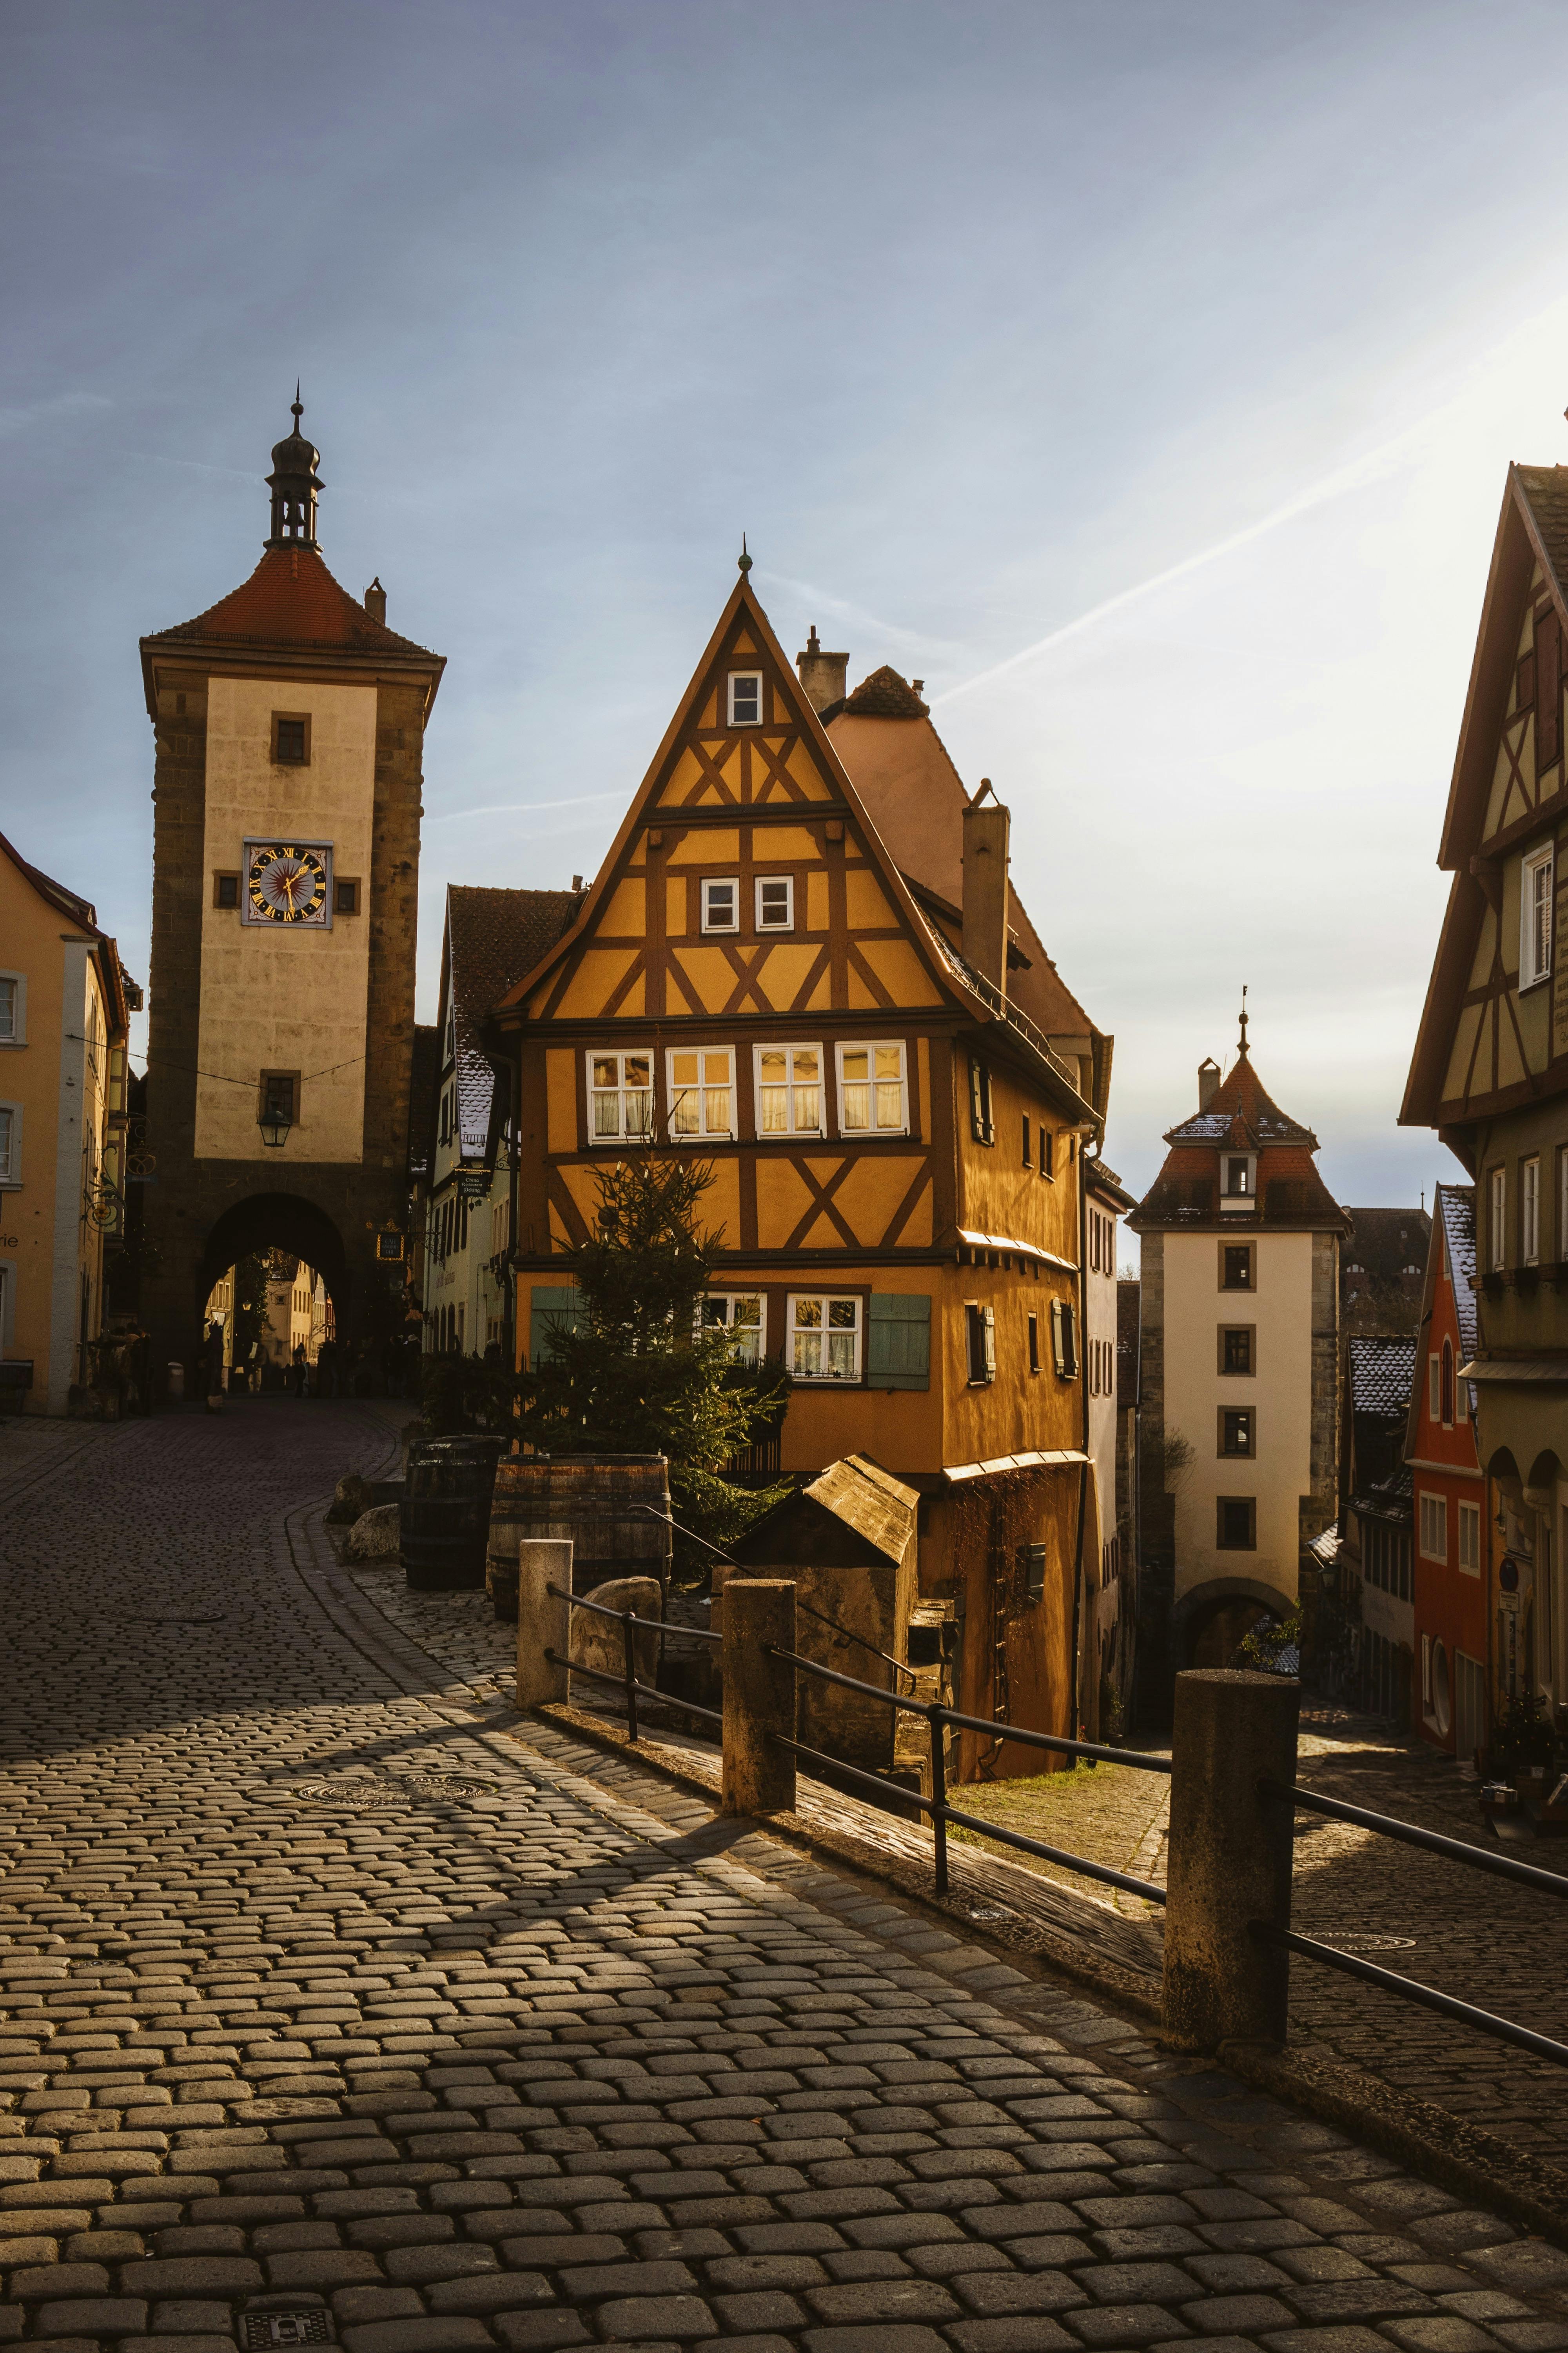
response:
<path id="1" fill-rule="evenodd" d="M 517 1617 L 517 1546 L 524 1537 L 571 1539 L 576 1593 L 607 1577 L 656 1577 L 668 1588 L 668 1515 L 670 1464 L 663 1454 L 510 1454 L 496 1468 L 484 1562 L 496 1617 Z"/>

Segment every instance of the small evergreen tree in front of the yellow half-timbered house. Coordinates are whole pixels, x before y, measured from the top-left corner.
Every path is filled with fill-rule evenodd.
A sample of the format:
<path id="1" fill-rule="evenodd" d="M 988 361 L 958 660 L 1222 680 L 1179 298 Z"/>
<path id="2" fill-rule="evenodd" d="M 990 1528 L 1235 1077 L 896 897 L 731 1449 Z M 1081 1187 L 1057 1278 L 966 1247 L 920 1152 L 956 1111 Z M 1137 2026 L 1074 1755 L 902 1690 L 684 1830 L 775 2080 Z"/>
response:
<path id="1" fill-rule="evenodd" d="M 597 1172 L 597 1226 L 571 1252 L 578 1318 L 550 1332 L 520 1386 L 531 1445 L 663 1454 L 675 1518 L 724 1546 L 788 1494 L 788 1482 L 743 1487 L 724 1466 L 778 1428 L 790 1384 L 780 1365 L 738 1365 L 731 1334 L 703 1322 L 724 1240 L 696 1226 L 710 1186 L 712 1167 L 656 1153 Z"/>

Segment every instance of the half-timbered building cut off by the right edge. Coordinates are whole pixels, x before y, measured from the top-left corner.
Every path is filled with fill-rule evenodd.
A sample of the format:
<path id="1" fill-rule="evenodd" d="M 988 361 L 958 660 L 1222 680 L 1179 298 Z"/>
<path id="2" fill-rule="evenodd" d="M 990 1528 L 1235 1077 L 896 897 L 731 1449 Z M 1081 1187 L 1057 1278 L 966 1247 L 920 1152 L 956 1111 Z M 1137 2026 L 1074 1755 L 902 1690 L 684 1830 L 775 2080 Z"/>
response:
<path id="1" fill-rule="evenodd" d="M 1448 786 L 1453 875 L 1403 1108 L 1476 1186 L 1493 1706 L 1568 1708 L 1568 466 L 1509 466 Z"/>

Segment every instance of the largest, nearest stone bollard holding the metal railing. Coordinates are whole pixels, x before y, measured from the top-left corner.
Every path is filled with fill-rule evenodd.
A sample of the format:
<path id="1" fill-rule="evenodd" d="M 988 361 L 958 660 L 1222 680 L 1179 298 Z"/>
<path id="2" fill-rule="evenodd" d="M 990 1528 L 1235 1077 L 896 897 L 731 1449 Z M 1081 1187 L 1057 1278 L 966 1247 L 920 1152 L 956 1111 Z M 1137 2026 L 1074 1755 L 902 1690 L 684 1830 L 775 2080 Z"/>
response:
<path id="1" fill-rule="evenodd" d="M 1178 2049 L 1284 2042 L 1291 1955 L 1248 1934 L 1291 1927 L 1293 1807 L 1258 1779 L 1295 1781 L 1300 1685 L 1194 1668 L 1175 1678 L 1164 2035 Z"/>

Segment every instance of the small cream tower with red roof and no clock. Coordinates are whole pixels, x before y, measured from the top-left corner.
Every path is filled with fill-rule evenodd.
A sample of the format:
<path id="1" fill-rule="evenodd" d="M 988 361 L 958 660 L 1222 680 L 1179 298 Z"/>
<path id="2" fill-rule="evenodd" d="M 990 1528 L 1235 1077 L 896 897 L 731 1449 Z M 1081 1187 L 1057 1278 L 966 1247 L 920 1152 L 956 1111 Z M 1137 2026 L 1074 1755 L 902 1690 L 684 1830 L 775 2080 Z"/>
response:
<path id="1" fill-rule="evenodd" d="M 1173 1668 L 1229 1666 L 1288 1617 L 1335 1515 L 1340 1242 L 1316 1136 L 1241 1038 L 1128 1219 L 1143 1240 L 1143 1558 L 1173 1577 Z"/>

